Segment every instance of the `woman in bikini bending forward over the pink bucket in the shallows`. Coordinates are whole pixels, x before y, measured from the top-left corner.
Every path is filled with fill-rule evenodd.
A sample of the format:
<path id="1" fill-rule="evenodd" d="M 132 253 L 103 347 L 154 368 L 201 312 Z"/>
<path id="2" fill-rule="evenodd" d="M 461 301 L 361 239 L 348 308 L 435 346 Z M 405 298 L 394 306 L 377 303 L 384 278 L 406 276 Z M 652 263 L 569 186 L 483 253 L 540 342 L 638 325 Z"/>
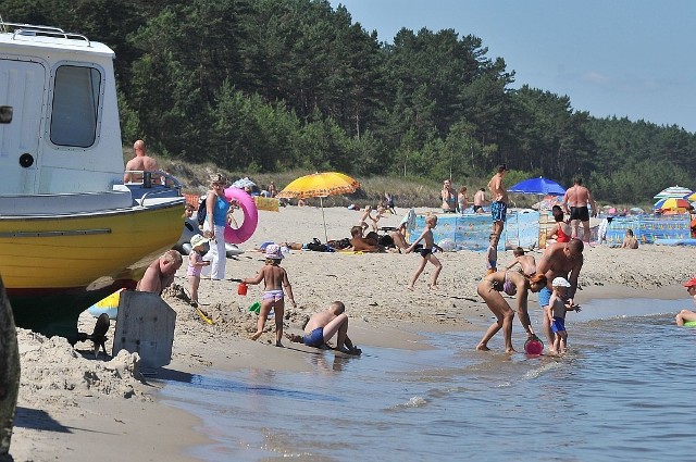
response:
<path id="1" fill-rule="evenodd" d="M 478 295 L 488 305 L 488 309 L 496 315 L 497 320 L 488 327 L 486 334 L 483 336 L 476 350 L 488 351 L 488 340 L 493 338 L 498 330 L 502 329 L 502 337 L 505 339 L 505 352 L 513 353 L 515 350 L 512 348 L 512 320 L 514 320 L 514 311 L 510 308 L 510 304 L 502 298 L 500 292 L 506 292 L 509 296 L 517 295 L 518 300 L 518 313 L 520 315 L 520 322 L 522 327 L 526 330 L 527 337 L 534 336 L 532 329 L 532 322 L 530 321 L 530 313 L 527 312 L 527 292 L 538 292 L 546 287 L 546 276 L 543 274 L 535 274 L 531 278 L 512 271 L 498 271 L 496 273 L 488 274 L 478 283 Z"/>

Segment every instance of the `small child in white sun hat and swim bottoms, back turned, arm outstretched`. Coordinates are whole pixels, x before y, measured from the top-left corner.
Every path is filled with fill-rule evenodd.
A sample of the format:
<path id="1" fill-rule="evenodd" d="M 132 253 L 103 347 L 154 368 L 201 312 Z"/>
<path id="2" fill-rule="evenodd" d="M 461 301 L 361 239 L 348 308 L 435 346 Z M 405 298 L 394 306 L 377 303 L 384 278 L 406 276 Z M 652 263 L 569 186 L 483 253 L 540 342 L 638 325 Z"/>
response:
<path id="1" fill-rule="evenodd" d="M 251 336 L 252 340 L 258 339 L 263 334 L 265 320 L 273 309 L 275 311 L 275 346 L 282 347 L 283 338 L 283 317 L 285 314 L 285 294 L 283 288 L 287 290 L 293 307 L 297 307 L 295 297 L 293 296 L 293 286 L 287 278 L 287 272 L 281 267 L 283 260 L 283 251 L 277 244 L 270 244 L 265 248 L 265 264 L 252 278 L 241 279 L 243 284 L 259 284 L 263 280 L 265 289 L 263 299 L 261 300 L 261 310 L 259 311 L 259 321 L 257 322 L 257 332 Z"/>

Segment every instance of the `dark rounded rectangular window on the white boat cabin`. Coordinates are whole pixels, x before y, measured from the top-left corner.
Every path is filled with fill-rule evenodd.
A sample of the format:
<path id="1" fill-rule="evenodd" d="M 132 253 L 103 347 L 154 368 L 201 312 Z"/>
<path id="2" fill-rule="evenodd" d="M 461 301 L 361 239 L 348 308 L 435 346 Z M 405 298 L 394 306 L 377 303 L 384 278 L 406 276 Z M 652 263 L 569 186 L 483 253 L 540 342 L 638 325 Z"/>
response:
<path id="1" fill-rule="evenodd" d="M 97 137 L 101 74 L 94 67 L 63 65 L 55 71 L 51 142 L 87 148 Z"/>

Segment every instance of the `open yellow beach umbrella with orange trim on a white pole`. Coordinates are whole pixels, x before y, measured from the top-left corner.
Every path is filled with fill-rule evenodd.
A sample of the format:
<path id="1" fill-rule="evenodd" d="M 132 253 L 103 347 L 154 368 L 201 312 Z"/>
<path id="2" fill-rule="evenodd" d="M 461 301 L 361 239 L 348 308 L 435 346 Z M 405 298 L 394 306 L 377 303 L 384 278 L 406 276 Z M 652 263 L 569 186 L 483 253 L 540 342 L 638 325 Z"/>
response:
<path id="1" fill-rule="evenodd" d="M 313 173 L 311 175 L 304 175 L 294 179 L 275 197 L 278 199 L 319 198 L 322 208 L 322 220 L 324 222 L 324 237 L 326 238 L 326 241 L 328 241 L 323 198 L 328 196 L 348 195 L 355 192 L 359 187 L 360 183 L 343 173 Z"/>

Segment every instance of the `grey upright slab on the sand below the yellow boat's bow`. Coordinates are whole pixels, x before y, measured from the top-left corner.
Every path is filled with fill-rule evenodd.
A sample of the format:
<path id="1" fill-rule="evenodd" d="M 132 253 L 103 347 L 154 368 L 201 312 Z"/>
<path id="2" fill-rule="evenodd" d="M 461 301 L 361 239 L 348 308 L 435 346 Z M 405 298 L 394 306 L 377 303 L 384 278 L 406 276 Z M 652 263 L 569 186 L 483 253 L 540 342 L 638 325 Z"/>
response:
<path id="1" fill-rule="evenodd" d="M 172 360 L 176 312 L 157 294 L 124 290 L 111 354 L 126 350 L 137 352 L 145 367 L 166 365 Z"/>

